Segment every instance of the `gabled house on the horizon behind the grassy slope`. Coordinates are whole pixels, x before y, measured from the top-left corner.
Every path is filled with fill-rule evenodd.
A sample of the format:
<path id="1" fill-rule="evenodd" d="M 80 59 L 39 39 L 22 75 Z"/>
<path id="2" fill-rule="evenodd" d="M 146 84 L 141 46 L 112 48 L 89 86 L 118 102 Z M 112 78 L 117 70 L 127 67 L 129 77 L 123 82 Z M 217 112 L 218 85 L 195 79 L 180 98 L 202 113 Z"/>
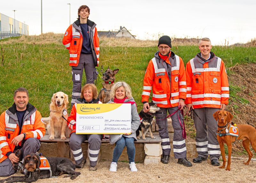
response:
<path id="1" fill-rule="evenodd" d="M 133 36 L 129 30 L 127 30 L 125 27 L 120 26 L 120 29 L 118 31 L 98 31 L 98 35 L 100 36 L 106 36 L 106 37 L 116 37 L 116 38 L 131 38 L 135 39 L 135 36 Z"/>

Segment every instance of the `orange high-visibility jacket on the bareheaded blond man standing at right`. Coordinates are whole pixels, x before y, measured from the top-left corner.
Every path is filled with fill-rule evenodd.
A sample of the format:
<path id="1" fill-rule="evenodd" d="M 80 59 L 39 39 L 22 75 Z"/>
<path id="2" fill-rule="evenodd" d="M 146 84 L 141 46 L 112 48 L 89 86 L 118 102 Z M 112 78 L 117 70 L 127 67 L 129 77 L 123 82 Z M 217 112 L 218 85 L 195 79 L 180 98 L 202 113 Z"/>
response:
<path id="1" fill-rule="evenodd" d="M 228 76 L 224 62 L 211 52 L 205 61 L 198 53 L 186 66 L 187 99 L 186 104 L 194 108 L 220 108 L 220 104 L 228 104 Z"/>

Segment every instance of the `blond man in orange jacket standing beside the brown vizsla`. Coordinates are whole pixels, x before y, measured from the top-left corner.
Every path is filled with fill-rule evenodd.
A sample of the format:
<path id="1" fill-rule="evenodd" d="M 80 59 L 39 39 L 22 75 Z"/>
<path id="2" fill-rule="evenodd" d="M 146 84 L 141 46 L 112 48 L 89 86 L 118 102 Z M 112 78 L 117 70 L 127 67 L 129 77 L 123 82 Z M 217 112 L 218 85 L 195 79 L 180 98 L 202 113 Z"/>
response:
<path id="1" fill-rule="evenodd" d="M 194 163 L 207 160 L 210 155 L 212 165 L 220 165 L 220 145 L 217 140 L 217 121 L 213 113 L 225 109 L 228 104 L 228 76 L 224 62 L 211 52 L 209 38 L 199 41 L 199 50 L 195 58 L 186 66 L 188 110 L 194 110 L 196 128 L 196 150 L 198 157 Z"/>

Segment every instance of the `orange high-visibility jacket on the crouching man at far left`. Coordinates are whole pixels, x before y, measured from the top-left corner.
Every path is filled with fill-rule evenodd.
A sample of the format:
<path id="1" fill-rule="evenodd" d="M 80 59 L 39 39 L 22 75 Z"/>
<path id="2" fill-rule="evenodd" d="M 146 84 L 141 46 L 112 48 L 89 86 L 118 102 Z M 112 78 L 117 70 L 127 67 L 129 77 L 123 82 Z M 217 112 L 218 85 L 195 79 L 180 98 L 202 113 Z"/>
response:
<path id="1" fill-rule="evenodd" d="M 14 137 L 19 135 L 20 127 L 16 115 L 15 103 L 0 116 L 0 149 L 2 151 L 0 162 L 4 161 L 6 153 L 14 150 L 15 145 L 11 144 Z M 30 103 L 23 118 L 23 126 L 20 133 L 26 133 L 25 139 L 42 139 L 45 134 L 45 127 L 42 116 L 36 107 Z M 21 141 L 22 142 L 22 141 Z M 19 145 L 21 145 L 21 142 Z"/>

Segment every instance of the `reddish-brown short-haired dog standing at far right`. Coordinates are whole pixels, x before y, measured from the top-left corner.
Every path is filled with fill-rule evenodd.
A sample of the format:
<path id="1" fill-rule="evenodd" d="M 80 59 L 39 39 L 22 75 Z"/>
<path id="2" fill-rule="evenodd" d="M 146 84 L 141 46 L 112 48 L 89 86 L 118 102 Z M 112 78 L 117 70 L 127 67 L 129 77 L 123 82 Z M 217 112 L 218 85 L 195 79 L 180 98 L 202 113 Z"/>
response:
<path id="1" fill-rule="evenodd" d="M 218 132 L 217 132 L 217 139 L 220 144 L 220 151 L 223 159 L 223 164 L 219 168 L 225 168 L 226 165 L 226 157 L 225 157 L 225 150 L 224 150 L 224 143 L 228 146 L 228 165 L 225 170 L 230 171 L 230 159 L 231 159 L 231 152 L 232 152 L 232 144 L 231 142 L 235 142 L 236 139 L 243 140 L 244 149 L 247 151 L 249 155 L 249 159 L 244 164 L 249 164 L 252 159 L 252 152 L 250 151 L 250 142 L 252 145 L 253 150 L 256 152 L 256 130 L 250 125 L 247 124 L 238 124 L 238 131 L 239 135 L 231 136 L 227 135 L 227 129 L 229 129 L 231 125 L 231 120 L 233 115 L 230 114 L 228 111 L 220 110 L 213 114 L 213 117 L 216 121 L 218 121 Z M 235 130 L 236 131 L 236 130 Z"/>

